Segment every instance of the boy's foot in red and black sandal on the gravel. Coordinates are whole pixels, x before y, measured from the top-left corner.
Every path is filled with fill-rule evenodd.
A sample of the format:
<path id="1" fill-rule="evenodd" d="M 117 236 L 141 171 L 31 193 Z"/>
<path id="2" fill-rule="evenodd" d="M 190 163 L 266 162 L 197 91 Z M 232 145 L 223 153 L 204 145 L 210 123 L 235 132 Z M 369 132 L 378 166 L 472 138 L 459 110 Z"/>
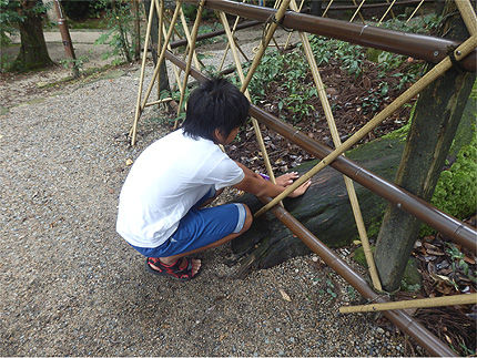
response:
<path id="1" fill-rule="evenodd" d="M 190 280 L 199 275 L 201 260 L 182 257 L 168 265 L 158 257 L 148 257 L 145 267 L 155 275 L 171 276 L 179 280 Z"/>

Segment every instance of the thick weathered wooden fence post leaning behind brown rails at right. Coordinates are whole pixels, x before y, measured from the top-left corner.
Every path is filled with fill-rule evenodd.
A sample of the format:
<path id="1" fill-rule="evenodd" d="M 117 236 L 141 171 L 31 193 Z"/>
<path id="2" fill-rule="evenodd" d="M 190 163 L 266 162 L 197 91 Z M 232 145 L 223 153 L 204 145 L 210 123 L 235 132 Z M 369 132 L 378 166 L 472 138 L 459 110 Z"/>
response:
<path id="1" fill-rule="evenodd" d="M 440 33 L 454 40 L 468 38 L 454 1 L 447 2 L 445 14 L 448 19 Z M 419 95 L 396 184 L 425 201 L 433 196 L 474 81 L 474 73 L 453 68 Z M 399 287 L 419 227 L 420 222 L 414 216 L 394 205 L 388 206 L 375 254 L 386 290 Z"/>

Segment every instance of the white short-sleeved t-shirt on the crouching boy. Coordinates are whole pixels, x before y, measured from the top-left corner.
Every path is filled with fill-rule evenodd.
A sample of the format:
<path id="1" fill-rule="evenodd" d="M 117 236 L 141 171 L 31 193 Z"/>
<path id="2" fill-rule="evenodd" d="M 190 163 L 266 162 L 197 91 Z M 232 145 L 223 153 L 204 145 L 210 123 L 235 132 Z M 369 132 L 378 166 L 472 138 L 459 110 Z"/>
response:
<path id="1" fill-rule="evenodd" d="M 210 190 L 240 183 L 242 168 L 210 140 L 182 130 L 151 144 L 121 190 L 118 233 L 139 247 L 158 247 Z"/>

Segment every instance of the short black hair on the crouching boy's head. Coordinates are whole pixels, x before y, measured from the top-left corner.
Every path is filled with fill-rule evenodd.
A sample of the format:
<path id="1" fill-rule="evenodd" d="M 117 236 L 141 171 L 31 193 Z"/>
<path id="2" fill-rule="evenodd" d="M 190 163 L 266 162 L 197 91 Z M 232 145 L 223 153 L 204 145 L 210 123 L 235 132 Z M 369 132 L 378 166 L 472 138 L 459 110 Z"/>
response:
<path id="1" fill-rule="evenodd" d="M 245 123 L 248 109 L 248 100 L 235 85 L 225 79 L 212 79 L 189 96 L 182 127 L 193 139 L 201 136 L 216 142 L 215 130 L 229 136 L 234 129 Z"/>

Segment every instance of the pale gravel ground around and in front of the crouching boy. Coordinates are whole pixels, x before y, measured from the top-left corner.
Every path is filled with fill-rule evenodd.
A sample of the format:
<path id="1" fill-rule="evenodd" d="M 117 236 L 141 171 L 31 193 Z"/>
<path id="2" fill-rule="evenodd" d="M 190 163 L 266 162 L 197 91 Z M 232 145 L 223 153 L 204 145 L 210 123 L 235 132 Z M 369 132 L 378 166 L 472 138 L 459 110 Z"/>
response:
<path id="1" fill-rule="evenodd" d="M 404 355 L 373 315 L 337 314 L 357 294 L 312 255 L 235 279 L 225 245 L 190 283 L 145 273 L 114 229 L 126 160 L 165 132 L 148 111 L 129 146 L 138 83 L 132 65 L 27 99 L 2 84 L 0 355 Z"/>

